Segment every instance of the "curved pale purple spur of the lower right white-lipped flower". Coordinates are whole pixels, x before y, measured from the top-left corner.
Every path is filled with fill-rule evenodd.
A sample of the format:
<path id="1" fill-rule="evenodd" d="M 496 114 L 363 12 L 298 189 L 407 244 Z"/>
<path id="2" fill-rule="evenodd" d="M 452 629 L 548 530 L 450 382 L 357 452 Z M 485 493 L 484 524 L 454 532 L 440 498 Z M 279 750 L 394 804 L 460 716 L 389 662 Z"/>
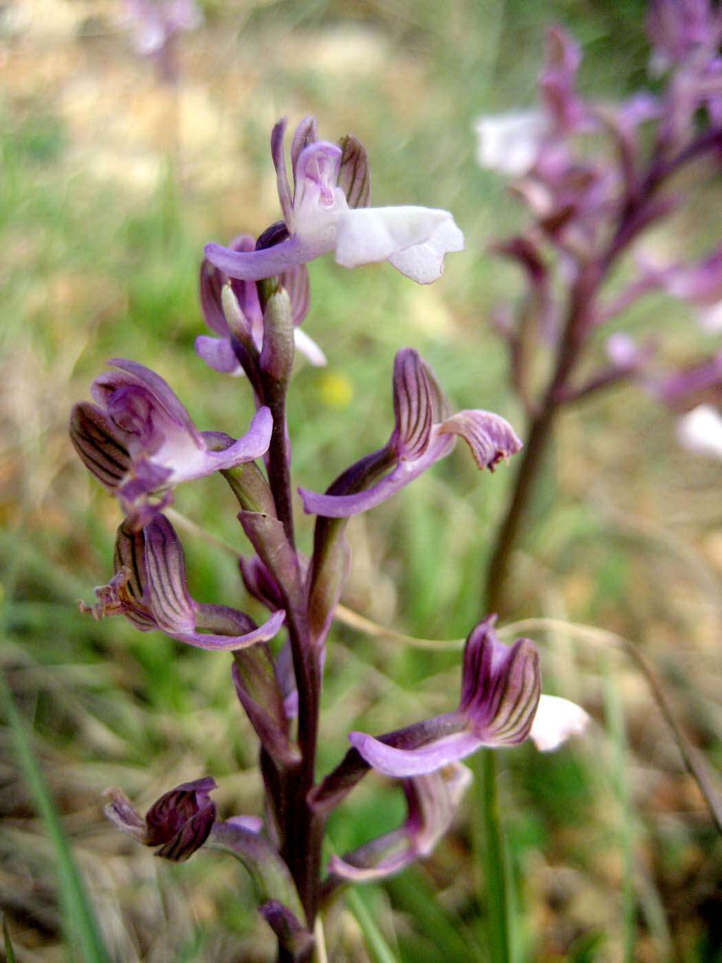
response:
<path id="1" fill-rule="evenodd" d="M 348 741 L 369 766 L 395 778 L 434 772 L 471 756 L 484 744 L 466 731 L 453 733 L 418 749 L 396 749 L 362 732 L 349 733 Z"/>

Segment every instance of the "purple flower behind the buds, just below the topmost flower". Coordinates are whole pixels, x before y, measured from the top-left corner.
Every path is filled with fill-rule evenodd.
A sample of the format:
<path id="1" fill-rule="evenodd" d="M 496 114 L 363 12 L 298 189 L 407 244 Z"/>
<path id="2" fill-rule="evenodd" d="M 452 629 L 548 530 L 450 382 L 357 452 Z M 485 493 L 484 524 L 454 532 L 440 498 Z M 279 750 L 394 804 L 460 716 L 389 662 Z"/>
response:
<path id="1" fill-rule="evenodd" d="M 230 249 L 249 253 L 254 247 L 253 238 L 245 234 L 236 238 Z M 323 351 L 299 326 L 308 314 L 308 269 L 303 264 L 292 268 L 280 275 L 278 283 L 288 291 L 291 299 L 297 351 L 305 355 L 312 365 L 324 365 L 326 358 Z M 227 294 L 223 297 L 226 284 L 232 292 L 230 300 Z M 229 305 L 230 319 L 226 318 L 224 303 Z M 239 325 L 245 335 L 252 339 L 258 351 L 263 348 L 263 311 L 255 282 L 230 278 L 210 261 L 204 260 L 200 268 L 200 304 L 206 324 L 219 334 L 219 337 L 199 335 L 195 339 L 196 353 L 214 371 L 224 375 L 243 375 L 244 369 L 233 351 L 231 336 L 234 330 L 238 329 L 236 325 Z"/>

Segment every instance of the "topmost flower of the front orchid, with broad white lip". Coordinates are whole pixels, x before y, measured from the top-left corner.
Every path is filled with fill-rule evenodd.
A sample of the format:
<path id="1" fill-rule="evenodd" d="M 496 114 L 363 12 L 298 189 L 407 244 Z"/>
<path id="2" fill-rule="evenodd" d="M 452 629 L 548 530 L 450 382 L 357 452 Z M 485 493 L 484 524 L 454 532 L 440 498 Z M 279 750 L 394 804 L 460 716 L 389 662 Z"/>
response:
<path id="1" fill-rule="evenodd" d="M 316 120 L 300 122 L 291 145 L 295 191 L 292 197 L 283 154 L 286 120 L 271 134 L 271 156 L 285 232 L 271 247 L 239 251 L 216 244 L 206 257 L 230 277 L 260 280 L 287 272 L 335 252 L 336 261 L 355 268 L 389 261 L 420 284 L 441 276 L 444 256 L 463 250 L 464 238 L 448 211 L 425 207 L 375 207 L 369 204 L 366 151 L 348 136 L 337 146 L 316 137 Z M 284 236 L 285 235 L 285 236 Z"/>

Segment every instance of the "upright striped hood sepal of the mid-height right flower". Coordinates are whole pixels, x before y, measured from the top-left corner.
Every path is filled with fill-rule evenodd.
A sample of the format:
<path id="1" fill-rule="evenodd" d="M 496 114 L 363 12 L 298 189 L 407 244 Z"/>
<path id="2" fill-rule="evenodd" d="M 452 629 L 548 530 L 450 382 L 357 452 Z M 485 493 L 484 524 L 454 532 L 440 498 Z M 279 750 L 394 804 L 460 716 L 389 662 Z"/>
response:
<path id="1" fill-rule="evenodd" d="M 392 447 L 402 459 L 420 458 L 430 440 L 433 409 L 425 364 L 411 348 L 398 351 L 394 359 L 394 412 Z"/>

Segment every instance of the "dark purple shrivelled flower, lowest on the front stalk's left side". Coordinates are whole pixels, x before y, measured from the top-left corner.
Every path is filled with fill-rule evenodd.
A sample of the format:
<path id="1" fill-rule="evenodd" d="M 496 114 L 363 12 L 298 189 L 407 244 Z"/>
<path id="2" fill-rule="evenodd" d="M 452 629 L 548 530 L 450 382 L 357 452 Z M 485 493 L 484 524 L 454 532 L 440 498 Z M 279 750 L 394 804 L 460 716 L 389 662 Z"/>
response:
<path id="1" fill-rule="evenodd" d="M 176 786 L 153 803 L 143 819 L 119 789 L 108 789 L 105 815 L 121 832 L 143 846 L 160 846 L 156 856 L 184 863 L 208 839 L 216 821 L 216 803 L 210 794 L 218 789 L 210 776 Z"/>

